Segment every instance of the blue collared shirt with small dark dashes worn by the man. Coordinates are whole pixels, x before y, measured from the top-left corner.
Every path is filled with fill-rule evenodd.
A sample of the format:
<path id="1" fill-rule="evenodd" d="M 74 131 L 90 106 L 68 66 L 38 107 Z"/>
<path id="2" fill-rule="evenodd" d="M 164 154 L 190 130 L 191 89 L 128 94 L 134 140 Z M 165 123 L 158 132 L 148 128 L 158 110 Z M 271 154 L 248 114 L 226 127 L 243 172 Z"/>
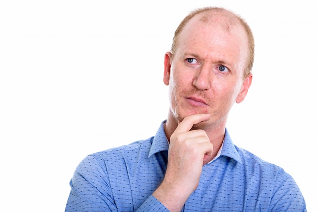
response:
<path id="1" fill-rule="evenodd" d="M 164 123 L 153 137 L 87 156 L 70 181 L 65 211 L 168 211 L 152 196 L 167 168 Z M 306 211 L 306 205 L 288 173 L 233 145 L 226 130 L 220 157 L 203 166 L 182 211 Z"/>

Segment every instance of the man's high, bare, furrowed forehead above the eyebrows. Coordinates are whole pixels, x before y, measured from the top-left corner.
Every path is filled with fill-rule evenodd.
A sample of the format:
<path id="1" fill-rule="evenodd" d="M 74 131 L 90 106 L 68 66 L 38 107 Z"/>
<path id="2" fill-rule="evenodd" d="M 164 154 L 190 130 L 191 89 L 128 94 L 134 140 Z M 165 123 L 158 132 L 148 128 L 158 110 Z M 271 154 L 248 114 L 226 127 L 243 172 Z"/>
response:
<path id="1" fill-rule="evenodd" d="M 197 14 L 180 32 L 177 46 L 176 52 L 181 54 L 189 51 L 203 57 L 226 57 L 219 59 L 241 63 L 246 61 L 248 37 L 243 26 L 231 17 Z"/>

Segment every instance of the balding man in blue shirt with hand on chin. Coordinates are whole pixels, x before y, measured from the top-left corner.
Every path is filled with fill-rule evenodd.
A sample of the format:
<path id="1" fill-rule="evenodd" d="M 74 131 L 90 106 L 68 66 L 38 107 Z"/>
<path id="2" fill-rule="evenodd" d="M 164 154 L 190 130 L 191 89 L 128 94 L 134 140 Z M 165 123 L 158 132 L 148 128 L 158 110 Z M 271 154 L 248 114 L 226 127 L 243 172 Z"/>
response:
<path id="1" fill-rule="evenodd" d="M 167 120 L 151 138 L 85 158 L 66 211 L 306 211 L 293 178 L 234 146 L 225 128 L 253 57 L 239 16 L 202 8 L 185 17 L 165 54 Z"/>

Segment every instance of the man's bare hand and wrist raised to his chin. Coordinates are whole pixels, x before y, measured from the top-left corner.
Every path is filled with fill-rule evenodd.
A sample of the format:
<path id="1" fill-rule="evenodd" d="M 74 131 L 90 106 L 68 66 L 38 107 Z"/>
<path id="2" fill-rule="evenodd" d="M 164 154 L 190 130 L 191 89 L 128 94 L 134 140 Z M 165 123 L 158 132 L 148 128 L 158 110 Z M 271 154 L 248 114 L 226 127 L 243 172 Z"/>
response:
<path id="1" fill-rule="evenodd" d="M 194 124 L 209 118 L 209 114 L 188 116 L 171 135 L 166 174 L 153 193 L 170 211 L 181 210 L 199 184 L 203 165 L 212 160 L 213 145 L 206 132 L 189 131 Z"/>

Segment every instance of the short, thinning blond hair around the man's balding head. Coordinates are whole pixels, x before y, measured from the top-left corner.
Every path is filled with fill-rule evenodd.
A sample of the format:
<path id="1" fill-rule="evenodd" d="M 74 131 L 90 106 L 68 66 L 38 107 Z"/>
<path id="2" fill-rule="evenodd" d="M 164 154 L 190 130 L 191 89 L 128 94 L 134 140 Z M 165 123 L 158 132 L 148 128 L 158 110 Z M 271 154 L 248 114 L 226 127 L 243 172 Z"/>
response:
<path id="1" fill-rule="evenodd" d="M 193 12 L 189 13 L 178 25 L 177 29 L 175 30 L 174 33 L 174 38 L 173 38 L 173 43 L 171 47 L 171 53 L 175 52 L 175 50 L 178 47 L 178 38 L 179 34 L 183 30 L 184 26 L 188 23 L 188 21 L 195 15 L 200 14 L 200 13 L 205 13 L 206 15 L 203 16 L 200 20 L 203 22 L 208 22 L 213 15 L 219 15 L 222 14 L 226 16 L 227 20 L 225 23 L 223 23 L 224 27 L 230 28 L 231 25 L 236 25 L 236 24 L 241 24 L 243 28 L 245 29 L 247 36 L 248 36 L 248 43 L 249 43 L 249 56 L 246 61 L 246 66 L 245 66 L 245 72 L 244 72 L 244 77 L 248 77 L 251 73 L 252 66 L 253 66 L 253 61 L 254 61 L 254 38 L 253 34 L 251 31 L 250 26 L 247 24 L 247 22 L 241 18 L 239 15 L 223 8 L 219 7 L 205 7 L 205 8 L 199 8 L 194 10 Z"/>

